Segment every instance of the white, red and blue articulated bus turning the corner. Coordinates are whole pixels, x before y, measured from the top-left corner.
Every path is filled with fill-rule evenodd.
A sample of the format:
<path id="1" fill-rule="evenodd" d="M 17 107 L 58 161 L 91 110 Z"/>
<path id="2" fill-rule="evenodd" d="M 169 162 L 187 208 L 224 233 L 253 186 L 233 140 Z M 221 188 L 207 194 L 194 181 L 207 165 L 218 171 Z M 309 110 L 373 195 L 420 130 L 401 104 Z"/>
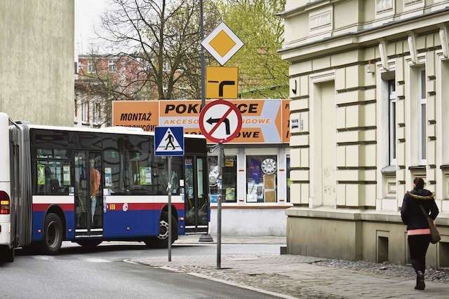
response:
<path id="1" fill-rule="evenodd" d="M 208 231 L 207 146 L 185 135 L 172 158 L 172 239 Z M 31 247 L 57 254 L 62 241 L 168 246 L 167 157 L 141 129 L 85 129 L 15 122 L 0 113 L 0 260 Z"/>

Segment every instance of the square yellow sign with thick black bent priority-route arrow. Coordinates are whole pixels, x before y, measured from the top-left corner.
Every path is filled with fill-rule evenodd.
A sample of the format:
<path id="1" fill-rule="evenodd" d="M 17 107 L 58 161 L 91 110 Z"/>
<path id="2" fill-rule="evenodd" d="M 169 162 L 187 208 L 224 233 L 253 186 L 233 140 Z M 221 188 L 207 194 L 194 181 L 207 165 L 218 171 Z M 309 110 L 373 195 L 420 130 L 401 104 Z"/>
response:
<path id="1" fill-rule="evenodd" d="M 206 68 L 206 98 L 236 99 L 239 69 L 237 67 Z"/>

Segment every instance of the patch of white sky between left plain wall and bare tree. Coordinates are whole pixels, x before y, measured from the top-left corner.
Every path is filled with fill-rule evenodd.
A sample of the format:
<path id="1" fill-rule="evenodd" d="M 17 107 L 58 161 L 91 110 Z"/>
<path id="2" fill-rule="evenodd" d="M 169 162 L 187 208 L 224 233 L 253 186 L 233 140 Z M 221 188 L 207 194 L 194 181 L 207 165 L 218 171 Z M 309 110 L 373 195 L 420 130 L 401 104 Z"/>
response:
<path id="1" fill-rule="evenodd" d="M 75 59 L 88 54 L 95 43 L 94 28 L 101 25 L 101 15 L 110 0 L 75 0 Z"/>

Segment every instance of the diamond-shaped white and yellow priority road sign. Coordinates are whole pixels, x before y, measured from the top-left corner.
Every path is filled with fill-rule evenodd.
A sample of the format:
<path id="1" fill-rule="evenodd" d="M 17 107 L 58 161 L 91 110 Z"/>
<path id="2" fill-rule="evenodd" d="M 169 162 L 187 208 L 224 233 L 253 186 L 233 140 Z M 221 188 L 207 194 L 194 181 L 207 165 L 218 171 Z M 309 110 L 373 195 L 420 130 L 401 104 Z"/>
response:
<path id="1" fill-rule="evenodd" d="M 243 41 L 224 22 L 221 22 L 206 36 L 206 39 L 201 41 L 201 45 L 217 62 L 224 65 L 243 46 Z"/>

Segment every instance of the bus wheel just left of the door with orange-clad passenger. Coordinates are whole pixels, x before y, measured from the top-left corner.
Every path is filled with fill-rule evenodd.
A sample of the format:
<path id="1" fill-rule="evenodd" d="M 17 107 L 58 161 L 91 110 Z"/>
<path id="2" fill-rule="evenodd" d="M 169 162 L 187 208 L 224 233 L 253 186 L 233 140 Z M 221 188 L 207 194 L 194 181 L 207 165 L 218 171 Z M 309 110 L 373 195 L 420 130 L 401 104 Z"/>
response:
<path id="1" fill-rule="evenodd" d="M 62 244 L 62 222 L 58 215 L 48 213 L 43 221 L 43 252 L 58 254 Z"/>

